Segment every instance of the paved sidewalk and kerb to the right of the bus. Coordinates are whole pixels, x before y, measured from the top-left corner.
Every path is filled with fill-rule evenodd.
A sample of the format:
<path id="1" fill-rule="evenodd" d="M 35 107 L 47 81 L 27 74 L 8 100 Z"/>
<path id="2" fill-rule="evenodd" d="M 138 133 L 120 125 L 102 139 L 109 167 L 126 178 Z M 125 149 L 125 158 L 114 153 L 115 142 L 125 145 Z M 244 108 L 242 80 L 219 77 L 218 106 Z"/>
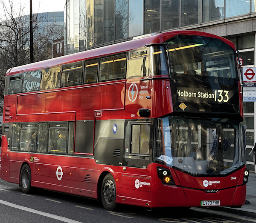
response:
<path id="1" fill-rule="evenodd" d="M 246 186 L 246 204 L 244 206 L 241 208 L 216 207 L 211 209 L 256 217 L 256 174 L 254 171 L 250 171 L 249 174 L 249 180 Z"/>

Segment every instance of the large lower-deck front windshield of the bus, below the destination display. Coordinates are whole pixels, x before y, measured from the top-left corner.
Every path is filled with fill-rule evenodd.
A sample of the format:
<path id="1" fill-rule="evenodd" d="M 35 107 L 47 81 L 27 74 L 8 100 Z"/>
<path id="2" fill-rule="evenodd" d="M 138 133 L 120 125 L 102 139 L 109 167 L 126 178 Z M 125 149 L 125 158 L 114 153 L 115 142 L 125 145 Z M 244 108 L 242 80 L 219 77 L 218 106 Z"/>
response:
<path id="1" fill-rule="evenodd" d="M 159 118 L 157 127 L 157 163 L 192 175 L 225 175 L 245 164 L 242 130 L 235 120 L 169 116 Z"/>

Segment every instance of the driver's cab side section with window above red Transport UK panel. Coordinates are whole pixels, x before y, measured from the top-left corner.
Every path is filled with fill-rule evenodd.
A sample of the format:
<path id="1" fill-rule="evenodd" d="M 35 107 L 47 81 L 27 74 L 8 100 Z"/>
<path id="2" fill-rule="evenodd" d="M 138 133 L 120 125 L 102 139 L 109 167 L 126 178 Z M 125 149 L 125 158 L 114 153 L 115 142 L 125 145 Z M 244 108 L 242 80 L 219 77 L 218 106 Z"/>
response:
<path id="1" fill-rule="evenodd" d="M 151 120 L 125 122 L 122 203 L 149 206 L 151 200 Z"/>

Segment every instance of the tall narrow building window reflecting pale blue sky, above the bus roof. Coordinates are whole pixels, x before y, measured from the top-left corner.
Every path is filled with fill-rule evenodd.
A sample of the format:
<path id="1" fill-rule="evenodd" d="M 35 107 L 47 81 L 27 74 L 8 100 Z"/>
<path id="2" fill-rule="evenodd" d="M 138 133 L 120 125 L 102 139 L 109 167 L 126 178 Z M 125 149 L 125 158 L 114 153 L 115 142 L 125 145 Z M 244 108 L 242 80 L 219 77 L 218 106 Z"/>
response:
<path id="1" fill-rule="evenodd" d="M 143 0 L 129 0 L 129 37 L 143 34 Z"/>

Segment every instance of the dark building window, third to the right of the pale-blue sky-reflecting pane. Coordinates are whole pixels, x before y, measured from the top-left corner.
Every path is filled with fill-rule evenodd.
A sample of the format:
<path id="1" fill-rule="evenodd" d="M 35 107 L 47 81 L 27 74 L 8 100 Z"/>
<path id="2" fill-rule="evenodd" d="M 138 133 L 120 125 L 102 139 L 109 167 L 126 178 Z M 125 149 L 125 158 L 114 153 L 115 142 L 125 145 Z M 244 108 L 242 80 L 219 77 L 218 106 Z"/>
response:
<path id="1" fill-rule="evenodd" d="M 201 22 L 201 1 L 181 1 L 181 26 L 190 26 Z"/>

